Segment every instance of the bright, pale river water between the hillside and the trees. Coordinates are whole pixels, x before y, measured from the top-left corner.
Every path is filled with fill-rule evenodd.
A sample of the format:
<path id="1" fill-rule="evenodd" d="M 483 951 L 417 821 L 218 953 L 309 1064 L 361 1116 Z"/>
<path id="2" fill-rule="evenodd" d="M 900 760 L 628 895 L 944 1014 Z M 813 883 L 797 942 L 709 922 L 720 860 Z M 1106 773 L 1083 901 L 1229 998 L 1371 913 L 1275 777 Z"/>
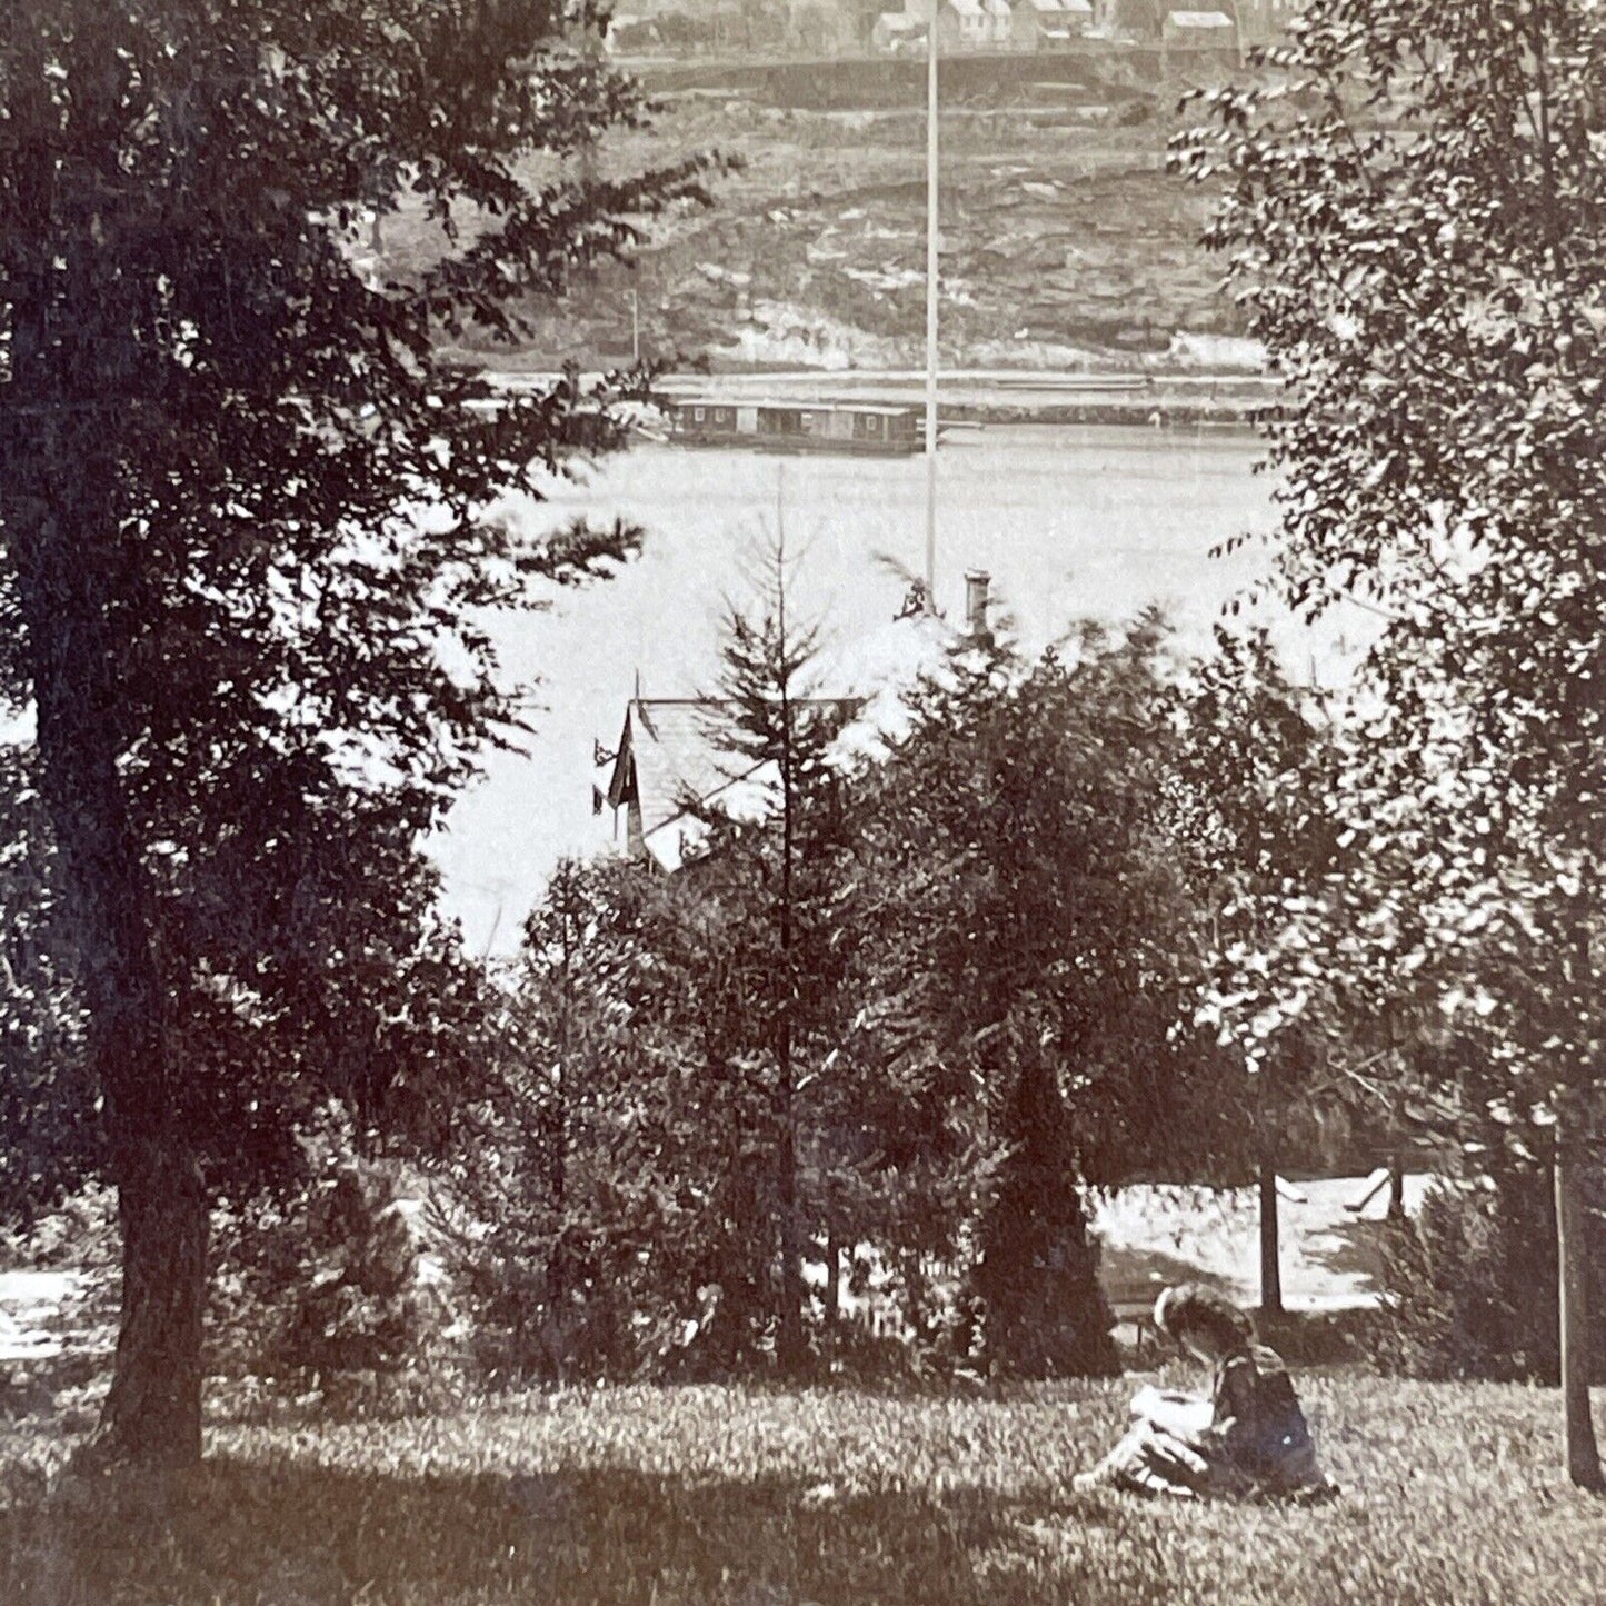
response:
<path id="1" fill-rule="evenodd" d="M 1248 435 L 1111 427 L 991 427 L 944 443 L 938 605 L 959 617 L 964 572 L 984 569 L 997 615 L 1029 649 L 1148 602 L 1168 610 L 1179 644 L 1203 644 L 1269 560 L 1259 543 L 1209 557 L 1227 536 L 1272 527 L 1259 451 Z M 509 511 L 540 524 L 620 516 L 646 543 L 613 580 L 498 623 L 507 673 L 540 683 L 536 729 L 522 753 L 491 755 L 434 848 L 448 909 L 491 952 L 517 946 L 562 854 L 607 848 L 610 816 L 591 811 L 593 782 L 605 782 L 593 742 L 617 745 L 638 678 L 647 697 L 711 687 L 723 599 L 752 604 L 777 524 L 797 559 L 789 605 L 825 626 L 825 689 L 872 689 L 907 655 L 907 622 L 891 622 L 904 577 L 925 565 L 925 461 L 642 446 Z M 1360 617 L 1320 636 L 1269 622 L 1296 671 L 1323 679 L 1365 636 Z"/>

